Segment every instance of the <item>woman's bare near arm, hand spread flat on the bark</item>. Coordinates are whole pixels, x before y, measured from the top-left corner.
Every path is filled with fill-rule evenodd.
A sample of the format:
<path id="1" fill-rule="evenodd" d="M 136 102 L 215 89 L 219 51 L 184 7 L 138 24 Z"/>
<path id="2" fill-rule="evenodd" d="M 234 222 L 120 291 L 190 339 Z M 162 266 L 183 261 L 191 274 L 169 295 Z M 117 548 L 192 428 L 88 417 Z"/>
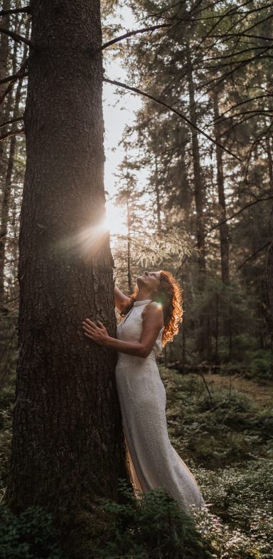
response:
<path id="1" fill-rule="evenodd" d="M 123 340 L 111 338 L 102 323 L 98 322 L 98 325 L 95 325 L 88 318 L 85 319 L 82 328 L 85 330 L 87 338 L 90 338 L 90 340 L 99 345 L 105 345 L 106 348 L 112 348 L 128 355 L 146 358 L 154 348 L 156 338 L 162 326 L 162 308 L 157 303 L 151 303 L 146 306 L 143 313 L 143 325 L 139 342 L 124 342 Z"/>

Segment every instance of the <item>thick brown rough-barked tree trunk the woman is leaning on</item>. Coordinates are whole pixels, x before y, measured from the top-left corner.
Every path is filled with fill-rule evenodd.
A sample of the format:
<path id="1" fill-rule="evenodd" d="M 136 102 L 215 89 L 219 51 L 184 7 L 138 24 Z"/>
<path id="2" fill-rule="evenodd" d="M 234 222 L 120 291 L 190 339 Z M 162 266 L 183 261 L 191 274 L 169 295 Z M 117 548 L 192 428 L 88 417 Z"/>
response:
<path id="1" fill-rule="evenodd" d="M 39 504 L 67 555 L 90 557 L 97 498 L 117 495 L 124 445 L 115 353 L 82 319 L 115 333 L 103 187 L 100 1 L 34 0 L 19 236 L 19 358 L 5 500 Z M 87 229 L 85 251 L 77 233 Z M 85 231 L 86 233 L 86 231 Z M 87 241 L 89 249 L 87 250 Z M 95 242 L 94 242 L 95 241 Z M 73 536 L 72 536 L 73 533 Z"/>

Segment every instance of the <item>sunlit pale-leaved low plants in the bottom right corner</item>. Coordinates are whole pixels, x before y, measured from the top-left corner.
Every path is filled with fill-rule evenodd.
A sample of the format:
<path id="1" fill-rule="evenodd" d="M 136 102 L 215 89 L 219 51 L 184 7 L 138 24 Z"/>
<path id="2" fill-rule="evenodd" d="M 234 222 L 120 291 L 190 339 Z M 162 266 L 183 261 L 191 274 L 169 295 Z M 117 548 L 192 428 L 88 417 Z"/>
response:
<path id="1" fill-rule="evenodd" d="M 230 529 L 244 533 L 262 558 L 272 558 L 273 550 L 272 469 L 273 451 L 269 445 L 266 458 L 244 469 L 193 470 L 211 511 Z"/>

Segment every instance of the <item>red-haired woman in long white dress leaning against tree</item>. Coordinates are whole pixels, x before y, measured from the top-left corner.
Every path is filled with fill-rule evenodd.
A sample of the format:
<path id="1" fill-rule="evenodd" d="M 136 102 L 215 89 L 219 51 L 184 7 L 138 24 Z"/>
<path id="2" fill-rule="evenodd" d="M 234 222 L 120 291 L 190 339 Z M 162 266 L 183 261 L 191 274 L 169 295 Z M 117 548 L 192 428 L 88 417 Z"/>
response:
<path id="1" fill-rule="evenodd" d="M 166 392 L 156 365 L 162 345 L 178 333 L 181 289 L 171 273 L 146 271 L 131 297 L 115 287 L 114 301 L 123 317 L 117 338 L 99 321 L 95 325 L 86 318 L 82 328 L 93 342 L 118 351 L 117 392 L 134 488 L 145 492 L 161 486 L 191 514 L 192 506 L 204 508 L 205 502 L 168 438 Z"/>

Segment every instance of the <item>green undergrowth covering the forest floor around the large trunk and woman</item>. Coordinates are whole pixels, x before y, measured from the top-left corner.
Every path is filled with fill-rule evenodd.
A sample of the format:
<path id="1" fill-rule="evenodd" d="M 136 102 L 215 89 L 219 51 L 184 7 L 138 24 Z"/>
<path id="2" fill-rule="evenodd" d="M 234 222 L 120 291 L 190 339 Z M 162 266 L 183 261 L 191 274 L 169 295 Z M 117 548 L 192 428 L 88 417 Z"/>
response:
<path id="1" fill-rule="evenodd" d="M 195 512 L 193 521 L 162 489 L 136 500 L 120 481 L 121 501 L 105 499 L 97 508 L 88 559 L 273 559 L 272 409 L 234 387 L 207 386 L 198 375 L 164 367 L 160 373 L 171 443 L 196 476 L 207 510 Z M 11 437 L 8 393 L 0 404 L 3 491 Z M 50 517 L 40 509 L 15 517 L 0 503 L 1 525 L 6 547 L 0 559 L 63 557 Z"/>

